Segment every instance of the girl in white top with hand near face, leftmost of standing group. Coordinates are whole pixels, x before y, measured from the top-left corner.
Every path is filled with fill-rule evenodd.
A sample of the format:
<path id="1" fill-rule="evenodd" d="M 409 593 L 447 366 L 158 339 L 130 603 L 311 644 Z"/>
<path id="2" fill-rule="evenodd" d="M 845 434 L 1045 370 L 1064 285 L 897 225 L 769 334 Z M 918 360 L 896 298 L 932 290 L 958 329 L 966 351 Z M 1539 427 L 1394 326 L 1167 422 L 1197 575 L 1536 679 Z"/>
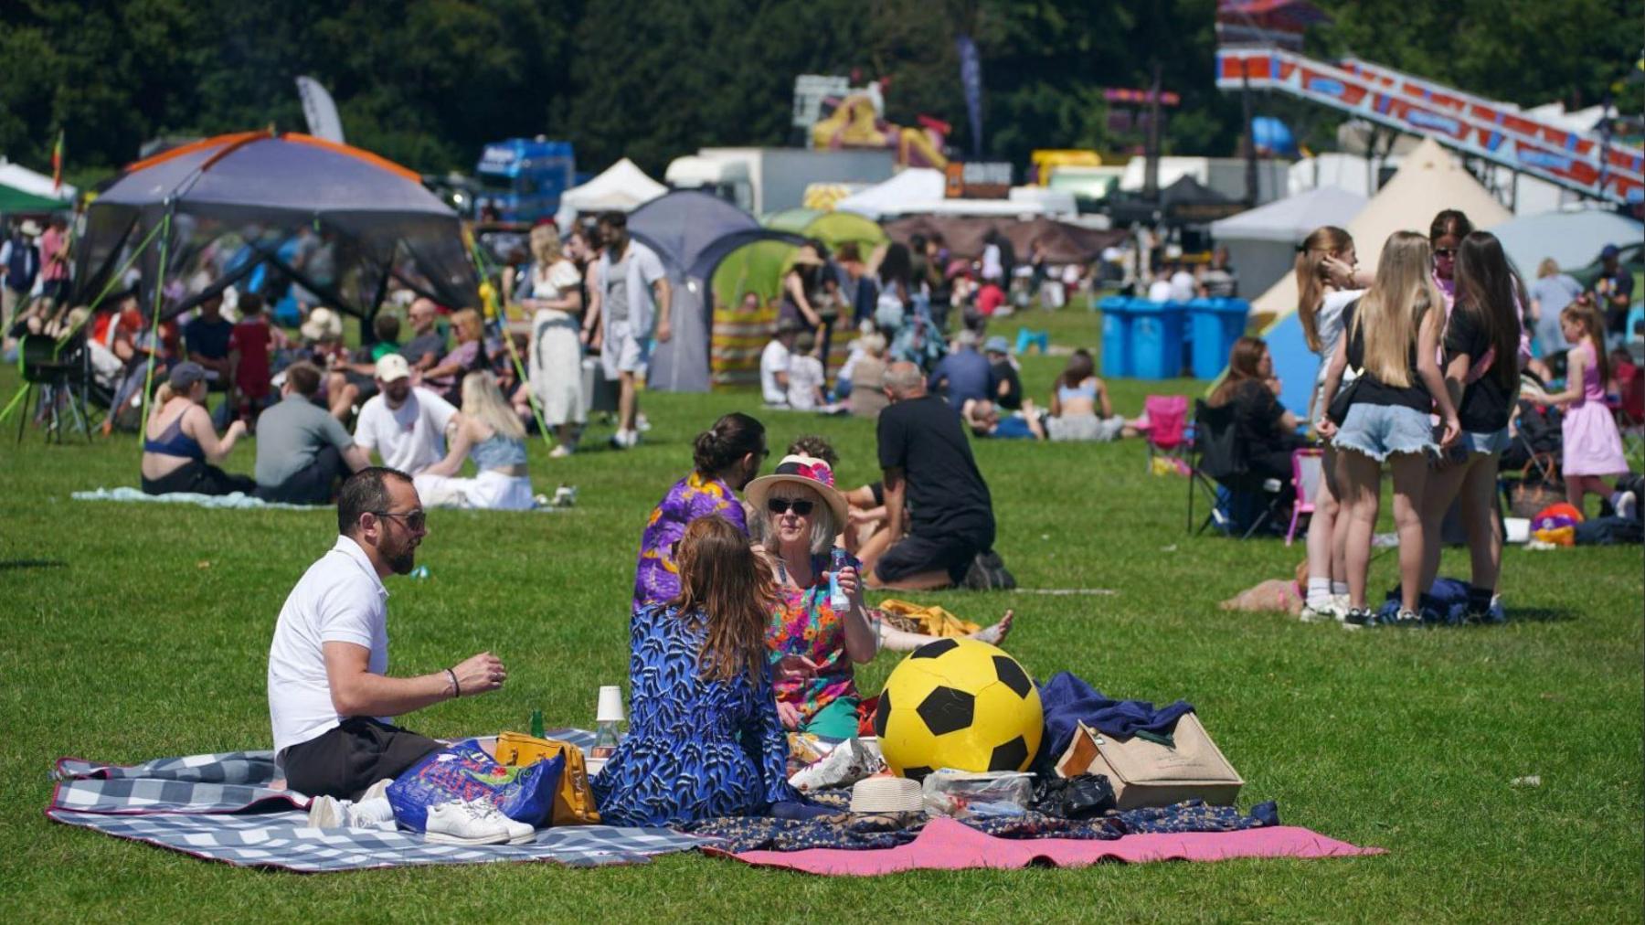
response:
<path id="1" fill-rule="evenodd" d="M 1351 280 L 1331 278 L 1331 263 L 1352 272 L 1357 263 L 1354 239 L 1336 225 L 1314 229 L 1296 249 L 1296 318 L 1303 324 L 1308 349 L 1319 357 L 1314 377 L 1314 393 L 1308 405 L 1308 420 L 1324 415 L 1319 397 L 1324 393 L 1326 370 L 1342 339 L 1342 309 L 1364 295 Z M 1337 451 L 1324 441 L 1321 458 L 1323 479 L 1314 490 L 1314 514 L 1308 518 L 1308 593 L 1303 601 L 1303 622 L 1341 621 L 1347 616 L 1347 566 L 1344 545 L 1347 542 L 1347 517 L 1342 517 L 1342 486 L 1337 476 Z"/>

